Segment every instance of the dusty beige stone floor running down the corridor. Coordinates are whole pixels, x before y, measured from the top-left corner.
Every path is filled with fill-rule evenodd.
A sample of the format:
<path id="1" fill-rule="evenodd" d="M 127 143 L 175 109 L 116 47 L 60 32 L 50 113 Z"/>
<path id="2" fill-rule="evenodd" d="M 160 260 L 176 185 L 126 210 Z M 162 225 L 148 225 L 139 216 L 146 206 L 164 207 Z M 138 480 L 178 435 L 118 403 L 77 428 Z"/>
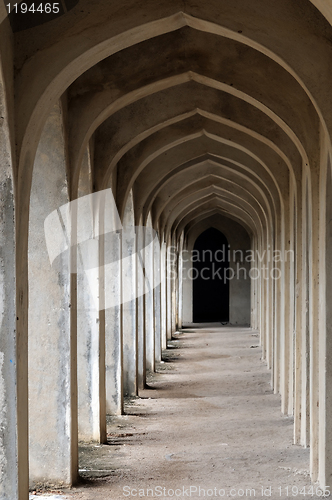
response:
<path id="1" fill-rule="evenodd" d="M 148 387 L 80 450 L 73 500 L 319 498 L 250 329 L 176 334 Z"/>

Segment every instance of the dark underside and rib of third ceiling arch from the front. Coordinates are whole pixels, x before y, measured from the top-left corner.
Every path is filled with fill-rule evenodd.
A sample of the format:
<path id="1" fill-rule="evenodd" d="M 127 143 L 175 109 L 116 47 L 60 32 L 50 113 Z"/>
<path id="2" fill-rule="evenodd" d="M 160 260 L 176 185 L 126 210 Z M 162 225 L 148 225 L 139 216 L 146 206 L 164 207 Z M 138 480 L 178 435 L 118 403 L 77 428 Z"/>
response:
<path id="1" fill-rule="evenodd" d="M 266 113 L 263 114 L 258 108 L 250 107 L 245 101 L 234 99 L 234 107 L 231 106 L 232 100 L 229 101 L 227 95 L 222 93 L 222 95 L 225 95 L 226 112 L 220 104 L 218 106 L 218 102 L 220 101 L 220 93 L 218 91 L 196 84 L 191 87 L 190 84 L 193 83 L 189 82 L 188 85 L 180 85 L 168 89 L 173 99 L 165 99 L 165 91 L 163 91 L 136 101 L 112 115 L 98 128 L 96 133 L 96 149 L 99 152 L 97 160 L 100 169 L 102 171 L 105 170 L 106 178 L 112 172 L 121 156 L 131 147 L 160 129 L 192 116 L 195 113 L 201 116 L 210 116 L 215 121 L 224 120 L 225 122 L 233 116 L 234 120 L 236 118 L 235 121 L 233 120 L 234 123 L 237 123 L 239 127 L 242 125 L 244 129 L 252 130 L 253 133 L 260 132 L 262 137 L 265 136 L 270 141 L 275 142 L 288 156 L 296 154 L 292 149 L 292 145 L 289 144 L 291 134 L 287 127 L 286 134 L 280 125 L 276 124 Z M 198 98 L 198 96 L 201 98 Z M 189 102 L 186 102 L 187 99 L 189 99 Z M 162 103 L 160 103 L 160 100 L 162 100 Z M 233 109 L 234 113 L 231 112 Z M 143 121 L 138 119 L 142 115 L 144 116 Z M 247 118 L 241 118 L 243 116 Z M 135 117 L 137 117 L 137 120 L 135 120 Z M 162 121 L 160 121 L 161 117 L 163 118 Z M 124 124 L 126 124 L 125 127 L 123 126 Z M 121 137 L 121 131 L 124 129 L 126 130 L 125 137 Z M 294 140 L 296 138 L 293 137 L 292 142 Z M 98 147 L 105 143 L 106 147 Z M 299 143 L 298 140 L 297 143 Z M 302 155 L 304 163 L 308 163 L 303 147 L 301 148 L 297 144 L 297 149 Z M 109 170 L 108 173 L 107 170 Z"/>

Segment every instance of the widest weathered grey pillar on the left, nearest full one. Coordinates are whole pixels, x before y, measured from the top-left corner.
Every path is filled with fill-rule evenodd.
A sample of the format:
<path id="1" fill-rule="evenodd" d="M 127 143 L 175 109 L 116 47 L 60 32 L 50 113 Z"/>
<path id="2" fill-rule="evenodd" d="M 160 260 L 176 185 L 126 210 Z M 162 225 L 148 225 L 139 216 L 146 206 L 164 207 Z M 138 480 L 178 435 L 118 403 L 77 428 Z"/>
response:
<path id="1" fill-rule="evenodd" d="M 38 146 L 29 223 L 29 398 L 32 483 L 77 479 L 76 332 L 71 329 L 70 251 L 50 265 L 45 218 L 68 203 L 62 109 L 54 106 Z M 60 217 L 61 219 L 61 217 Z M 66 238 L 55 212 L 47 237 Z M 68 233 L 66 235 L 68 238 Z M 67 239 L 68 242 L 68 239 Z"/>

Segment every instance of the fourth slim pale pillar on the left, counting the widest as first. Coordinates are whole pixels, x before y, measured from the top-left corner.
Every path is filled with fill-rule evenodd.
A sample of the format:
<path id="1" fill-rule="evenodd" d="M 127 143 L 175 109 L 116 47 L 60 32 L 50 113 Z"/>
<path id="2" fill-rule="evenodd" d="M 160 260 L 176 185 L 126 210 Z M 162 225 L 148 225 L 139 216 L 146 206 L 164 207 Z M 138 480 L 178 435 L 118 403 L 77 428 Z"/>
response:
<path id="1" fill-rule="evenodd" d="M 125 208 L 122 231 L 122 335 L 123 392 L 125 397 L 137 396 L 137 333 L 136 333 L 136 234 L 133 195 L 130 192 Z"/>

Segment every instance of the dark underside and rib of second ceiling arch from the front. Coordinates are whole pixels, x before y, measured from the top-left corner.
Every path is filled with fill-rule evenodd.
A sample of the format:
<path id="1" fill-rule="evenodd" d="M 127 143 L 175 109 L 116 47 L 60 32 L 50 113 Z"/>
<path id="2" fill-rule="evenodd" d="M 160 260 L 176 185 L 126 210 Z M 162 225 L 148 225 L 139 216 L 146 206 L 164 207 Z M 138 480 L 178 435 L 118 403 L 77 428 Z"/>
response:
<path id="1" fill-rule="evenodd" d="M 206 50 L 204 57 L 201 54 L 198 57 L 196 53 L 197 40 L 190 40 L 196 49 L 192 59 L 190 59 L 190 50 L 189 55 L 179 54 L 179 42 L 174 40 L 176 36 L 174 33 L 171 35 L 167 35 L 169 37 L 167 43 L 164 40 L 160 42 L 160 37 L 157 37 L 153 40 L 153 43 L 146 42 L 146 47 L 140 45 L 140 50 L 136 46 L 127 49 L 129 52 L 135 51 L 134 54 L 127 55 L 127 58 L 127 51 L 122 51 L 121 54 L 116 54 L 109 60 L 102 61 L 99 63 L 98 69 L 92 68 L 70 87 L 71 113 L 76 115 L 75 123 L 71 127 L 71 141 L 74 144 L 76 143 L 73 148 L 73 164 L 80 164 L 80 144 L 85 144 L 97 126 L 110 114 L 117 111 L 119 107 L 141 98 L 144 91 L 154 93 L 162 90 L 163 79 L 165 81 L 164 85 L 174 85 L 184 81 L 183 78 L 191 79 L 195 74 L 198 75 L 198 79 L 202 78 L 201 74 L 204 75 L 206 80 L 211 81 L 211 86 L 214 83 L 214 85 L 219 85 L 219 88 L 221 86 L 221 89 L 228 93 L 241 94 L 242 98 L 247 96 L 246 99 L 252 105 L 263 105 L 267 110 L 270 110 L 270 113 L 281 117 L 281 121 L 289 124 L 292 130 L 296 130 L 297 135 L 301 138 L 300 142 L 303 142 L 303 144 L 312 143 L 314 137 L 318 139 L 316 137 L 318 117 L 310 100 L 296 80 L 272 60 L 251 49 L 247 49 L 245 57 L 243 57 L 244 49 L 241 45 L 237 48 L 226 46 L 227 42 L 235 43 L 229 39 L 227 41 L 223 40 L 223 43 L 218 48 L 220 61 L 216 60 L 214 64 L 211 63 L 211 53 L 215 49 L 215 44 L 211 44 L 213 45 L 211 53 Z M 207 34 L 200 34 L 200 36 L 203 35 L 207 36 Z M 199 35 L 195 33 L 196 36 Z M 155 44 L 158 43 L 158 40 L 161 43 L 161 48 L 160 57 L 156 58 Z M 206 42 L 204 42 L 201 43 L 202 47 L 206 45 Z M 186 40 L 186 49 L 182 49 L 186 54 L 188 52 L 187 45 L 189 43 Z M 151 59 L 157 59 L 158 63 L 154 61 L 153 65 L 150 60 L 146 61 L 145 58 L 149 54 Z M 133 74 L 132 64 L 129 64 L 134 57 L 135 74 Z M 163 57 L 165 57 L 165 60 L 163 60 Z M 262 60 L 257 60 L 259 57 Z M 214 53 L 213 60 L 215 58 Z M 227 64 L 228 60 L 230 61 L 229 64 Z M 174 61 L 174 69 L 170 61 Z M 202 62 L 199 65 L 197 61 L 204 61 L 205 64 Z M 209 61 L 208 68 L 206 67 L 207 61 Z M 158 65 L 156 66 L 156 64 Z M 238 64 L 238 67 L 236 64 Z M 271 64 L 274 65 L 272 68 L 270 67 Z M 120 65 L 120 68 L 117 68 L 117 65 Z M 264 68 L 264 71 L 262 71 L 262 68 Z M 117 73 L 121 74 L 120 82 L 116 81 Z M 103 75 L 102 79 L 100 74 Z M 127 78 L 124 78 L 123 74 Z M 147 78 L 142 76 L 146 74 L 151 75 L 151 81 L 147 81 Z M 155 77 L 155 75 L 158 76 Z M 98 81 L 97 86 L 96 79 Z M 112 85 L 110 85 L 110 81 Z M 104 89 L 103 92 L 100 91 L 100 87 Z M 280 99 L 280 95 L 283 96 L 282 99 Z M 306 144 L 306 147 L 309 147 L 308 144 Z"/>

